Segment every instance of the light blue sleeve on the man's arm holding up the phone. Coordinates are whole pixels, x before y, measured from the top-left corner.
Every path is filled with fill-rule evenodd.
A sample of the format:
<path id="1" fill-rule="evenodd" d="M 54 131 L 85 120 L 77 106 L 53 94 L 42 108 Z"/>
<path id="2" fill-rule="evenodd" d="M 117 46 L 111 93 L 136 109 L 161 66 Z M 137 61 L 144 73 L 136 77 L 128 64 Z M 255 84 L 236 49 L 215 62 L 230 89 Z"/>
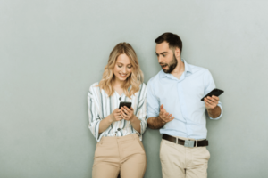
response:
<path id="1" fill-rule="evenodd" d="M 205 72 L 204 77 L 204 85 L 205 85 L 205 95 L 207 93 L 210 93 L 214 88 L 216 88 L 216 85 L 214 83 L 214 78 L 212 77 L 210 71 L 207 69 Z M 216 118 L 209 117 L 212 120 L 218 120 L 222 117 L 223 109 L 222 109 L 222 102 L 219 101 L 218 106 L 221 108 L 221 115 Z"/>

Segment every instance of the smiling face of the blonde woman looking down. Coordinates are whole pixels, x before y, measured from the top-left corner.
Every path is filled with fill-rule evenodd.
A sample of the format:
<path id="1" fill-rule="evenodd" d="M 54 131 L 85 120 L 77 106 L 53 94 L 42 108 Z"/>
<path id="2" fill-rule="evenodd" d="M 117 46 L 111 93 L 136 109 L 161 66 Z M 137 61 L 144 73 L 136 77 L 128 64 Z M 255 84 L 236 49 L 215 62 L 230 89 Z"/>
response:
<path id="1" fill-rule="evenodd" d="M 116 79 L 124 81 L 130 76 L 131 72 L 132 64 L 130 63 L 130 58 L 124 53 L 120 54 L 113 68 L 114 76 Z"/>

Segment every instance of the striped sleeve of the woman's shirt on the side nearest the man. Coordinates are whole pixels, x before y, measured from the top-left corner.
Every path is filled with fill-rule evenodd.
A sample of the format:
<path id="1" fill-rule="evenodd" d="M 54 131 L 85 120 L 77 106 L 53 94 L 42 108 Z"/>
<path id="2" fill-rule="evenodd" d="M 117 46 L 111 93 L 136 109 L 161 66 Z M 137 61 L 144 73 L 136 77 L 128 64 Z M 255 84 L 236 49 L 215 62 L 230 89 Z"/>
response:
<path id="1" fill-rule="evenodd" d="M 137 114 L 136 117 L 138 117 L 138 120 L 140 120 L 140 134 L 138 131 L 135 130 L 135 132 L 139 135 L 141 139 L 141 135 L 146 131 L 147 129 L 147 85 L 142 84 L 141 85 L 141 91 L 138 99 L 138 106 L 137 106 Z"/>

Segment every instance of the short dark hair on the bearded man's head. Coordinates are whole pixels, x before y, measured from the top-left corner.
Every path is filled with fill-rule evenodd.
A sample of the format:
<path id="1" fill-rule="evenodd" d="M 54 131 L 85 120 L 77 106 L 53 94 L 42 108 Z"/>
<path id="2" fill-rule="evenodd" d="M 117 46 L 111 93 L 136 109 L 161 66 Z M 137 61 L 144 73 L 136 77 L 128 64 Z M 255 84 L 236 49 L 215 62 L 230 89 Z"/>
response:
<path id="1" fill-rule="evenodd" d="M 162 44 L 163 42 L 167 42 L 172 51 L 178 47 L 180 49 L 180 53 L 182 52 L 182 41 L 180 39 L 180 36 L 166 32 L 155 39 L 156 44 Z"/>

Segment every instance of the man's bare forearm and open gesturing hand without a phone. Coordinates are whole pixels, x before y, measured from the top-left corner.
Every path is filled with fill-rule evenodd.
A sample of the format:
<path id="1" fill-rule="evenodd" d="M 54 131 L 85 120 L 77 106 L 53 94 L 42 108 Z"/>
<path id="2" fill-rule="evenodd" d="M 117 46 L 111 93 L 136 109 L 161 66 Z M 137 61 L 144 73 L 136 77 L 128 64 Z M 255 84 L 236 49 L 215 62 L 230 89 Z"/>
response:
<path id="1" fill-rule="evenodd" d="M 151 129 L 159 129 L 165 125 L 165 123 L 170 122 L 174 119 L 172 114 L 168 113 L 163 109 L 163 104 L 160 106 L 160 113 L 158 117 L 149 117 L 147 119 L 148 127 Z"/>

